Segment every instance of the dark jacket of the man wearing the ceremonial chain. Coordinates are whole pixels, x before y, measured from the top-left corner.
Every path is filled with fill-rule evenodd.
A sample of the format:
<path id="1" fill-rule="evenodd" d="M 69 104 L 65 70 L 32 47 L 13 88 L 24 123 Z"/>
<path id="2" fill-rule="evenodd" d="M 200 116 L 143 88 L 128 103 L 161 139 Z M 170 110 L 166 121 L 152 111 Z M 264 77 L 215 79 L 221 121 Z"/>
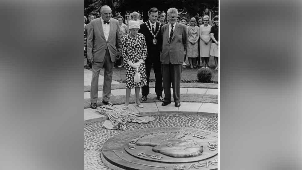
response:
<path id="1" fill-rule="evenodd" d="M 159 21 L 157 21 L 155 23 L 155 34 L 158 32 L 157 36 L 156 36 L 156 40 L 157 40 L 157 44 L 153 44 L 153 35 L 151 34 L 149 28 L 147 27 L 146 23 L 148 24 L 150 30 L 152 31 L 152 27 L 150 26 L 150 22 L 149 20 L 143 24 L 140 24 L 140 30 L 138 31 L 139 33 L 143 34 L 145 36 L 145 40 L 146 40 L 146 45 L 147 45 L 147 51 L 148 51 L 148 54 L 155 54 L 155 55 L 158 55 L 158 58 L 157 60 L 159 60 L 159 51 L 161 49 L 161 46 L 162 46 L 162 31 L 161 31 L 161 28 L 162 28 L 162 24 L 160 24 Z M 149 55 L 146 59 L 146 61 L 154 61 L 154 59 L 150 58 Z"/>

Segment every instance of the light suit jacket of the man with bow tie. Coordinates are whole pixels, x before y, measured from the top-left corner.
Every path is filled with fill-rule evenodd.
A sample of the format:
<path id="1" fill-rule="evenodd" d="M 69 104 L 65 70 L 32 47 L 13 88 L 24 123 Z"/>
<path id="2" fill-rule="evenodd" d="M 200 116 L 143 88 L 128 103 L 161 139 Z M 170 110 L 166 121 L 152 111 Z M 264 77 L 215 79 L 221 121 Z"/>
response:
<path id="1" fill-rule="evenodd" d="M 101 18 L 90 22 L 87 37 L 87 56 L 95 62 L 103 62 L 108 48 L 111 61 L 114 62 L 116 55 L 122 54 L 122 38 L 119 32 L 119 21 L 110 18 L 110 32 L 106 41 Z"/>

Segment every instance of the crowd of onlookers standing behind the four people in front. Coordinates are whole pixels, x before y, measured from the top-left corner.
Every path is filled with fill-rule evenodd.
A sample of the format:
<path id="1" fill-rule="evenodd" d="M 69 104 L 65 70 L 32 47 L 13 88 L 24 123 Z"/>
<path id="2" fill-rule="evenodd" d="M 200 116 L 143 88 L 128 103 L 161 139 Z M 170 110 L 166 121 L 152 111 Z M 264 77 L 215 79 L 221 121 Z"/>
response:
<path id="1" fill-rule="evenodd" d="M 131 20 L 124 20 L 124 17 L 117 13 L 117 17 L 111 17 L 119 21 L 119 28 L 121 36 L 125 36 L 129 33 L 128 23 L 130 21 L 138 21 L 140 24 L 144 23 L 141 20 L 141 15 L 139 12 L 132 12 L 129 16 Z M 87 33 L 90 26 L 90 21 L 96 18 L 100 18 L 101 15 L 96 12 L 92 12 L 88 15 L 88 19 L 84 16 L 84 57 L 87 58 Z M 128 18 L 129 18 L 128 17 Z M 157 21 L 162 24 L 168 24 L 166 13 L 164 11 L 160 12 L 157 17 Z M 188 50 L 184 55 L 183 68 L 186 68 L 185 63 L 188 58 L 188 63 L 191 69 L 193 68 L 209 68 L 209 57 L 214 57 L 215 70 L 218 70 L 218 25 L 219 19 L 218 15 L 214 16 L 212 20 L 209 17 L 209 10 L 205 9 L 201 16 L 194 16 L 190 20 L 186 17 L 176 18 L 176 22 L 185 24 L 188 31 Z M 125 24 L 124 24 L 125 23 Z M 216 40 L 216 41 L 215 41 Z M 121 58 L 118 62 L 114 64 L 116 67 L 123 67 L 124 62 Z M 91 63 L 87 62 L 85 68 L 91 68 Z"/>

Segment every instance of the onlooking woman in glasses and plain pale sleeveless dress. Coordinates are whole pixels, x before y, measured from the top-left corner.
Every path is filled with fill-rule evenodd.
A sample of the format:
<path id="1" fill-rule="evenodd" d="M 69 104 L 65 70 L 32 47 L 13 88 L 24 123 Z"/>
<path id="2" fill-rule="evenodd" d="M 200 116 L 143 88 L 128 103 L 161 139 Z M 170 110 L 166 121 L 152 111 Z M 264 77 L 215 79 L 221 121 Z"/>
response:
<path id="1" fill-rule="evenodd" d="M 208 63 L 210 59 L 210 49 L 211 49 L 211 25 L 209 24 L 209 16 L 205 15 L 201 20 L 204 24 L 199 27 L 199 44 L 200 44 L 200 57 L 202 62 L 202 69 L 209 69 Z M 199 20 L 198 20 L 199 21 Z"/>

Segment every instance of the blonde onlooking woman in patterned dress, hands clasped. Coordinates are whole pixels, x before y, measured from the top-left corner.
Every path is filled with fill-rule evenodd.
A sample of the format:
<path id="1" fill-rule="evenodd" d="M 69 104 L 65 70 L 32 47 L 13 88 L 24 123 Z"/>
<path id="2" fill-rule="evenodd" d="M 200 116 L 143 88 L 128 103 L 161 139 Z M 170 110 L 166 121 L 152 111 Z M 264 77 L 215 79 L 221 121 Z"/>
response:
<path id="1" fill-rule="evenodd" d="M 196 68 L 195 62 L 198 57 L 198 40 L 199 40 L 199 28 L 196 26 L 196 19 L 193 17 L 190 20 L 190 26 L 188 27 L 188 48 L 187 56 L 190 63 L 190 68 Z"/>

